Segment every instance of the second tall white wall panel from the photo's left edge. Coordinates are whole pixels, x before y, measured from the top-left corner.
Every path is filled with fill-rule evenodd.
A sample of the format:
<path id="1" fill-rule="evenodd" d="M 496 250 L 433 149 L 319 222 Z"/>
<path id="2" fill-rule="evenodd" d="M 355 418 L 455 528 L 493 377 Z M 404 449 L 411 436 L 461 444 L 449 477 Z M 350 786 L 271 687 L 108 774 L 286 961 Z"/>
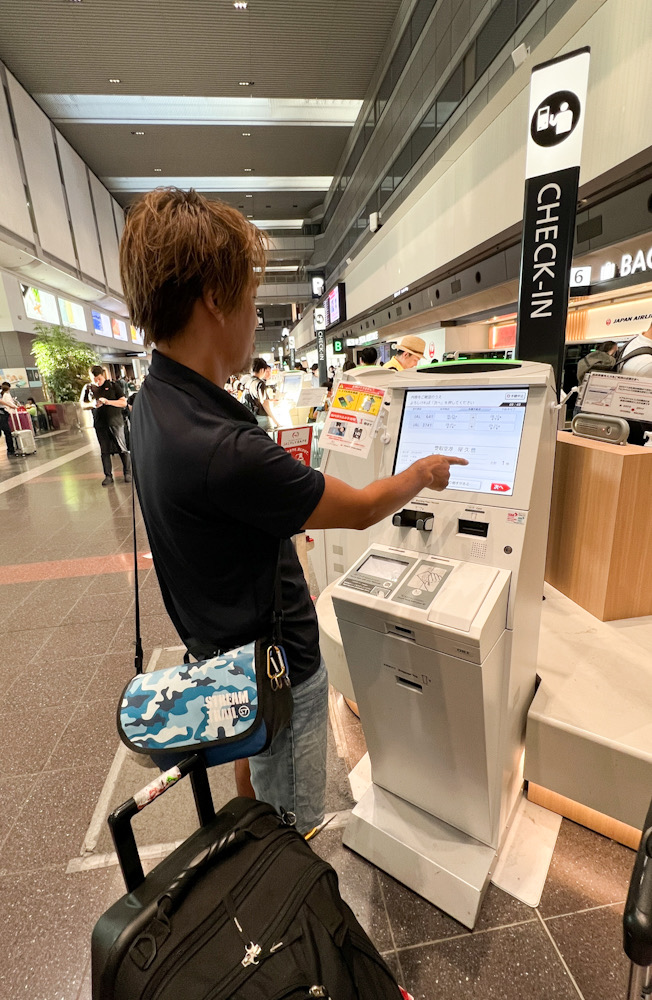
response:
<path id="1" fill-rule="evenodd" d="M 7 73 L 25 173 L 44 250 L 76 267 L 50 119 Z"/>

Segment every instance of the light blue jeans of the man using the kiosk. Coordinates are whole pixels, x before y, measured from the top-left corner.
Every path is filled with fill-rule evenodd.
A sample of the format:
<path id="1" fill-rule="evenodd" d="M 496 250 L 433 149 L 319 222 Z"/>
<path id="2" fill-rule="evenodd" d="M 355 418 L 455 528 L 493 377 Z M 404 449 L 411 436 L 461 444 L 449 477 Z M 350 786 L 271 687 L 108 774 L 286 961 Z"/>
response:
<path id="1" fill-rule="evenodd" d="M 319 669 L 292 689 L 292 721 L 271 746 L 249 758 L 256 798 L 296 816 L 299 833 L 319 826 L 326 809 L 328 674 Z"/>

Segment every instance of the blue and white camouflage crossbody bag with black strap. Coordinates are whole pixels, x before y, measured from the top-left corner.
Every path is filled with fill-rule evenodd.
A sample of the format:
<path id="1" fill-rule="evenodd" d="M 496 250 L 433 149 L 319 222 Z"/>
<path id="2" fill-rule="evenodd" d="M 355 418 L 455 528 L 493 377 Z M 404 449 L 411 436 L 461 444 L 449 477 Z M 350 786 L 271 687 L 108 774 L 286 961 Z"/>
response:
<path id="1" fill-rule="evenodd" d="M 262 753 L 292 718 L 281 636 L 280 547 L 267 636 L 230 650 L 188 639 L 188 653 L 180 666 L 143 672 L 133 480 L 132 494 L 136 676 L 118 704 L 120 739 L 164 769 L 189 753 L 201 753 L 208 767 Z M 190 662 L 191 653 L 196 663 Z"/>

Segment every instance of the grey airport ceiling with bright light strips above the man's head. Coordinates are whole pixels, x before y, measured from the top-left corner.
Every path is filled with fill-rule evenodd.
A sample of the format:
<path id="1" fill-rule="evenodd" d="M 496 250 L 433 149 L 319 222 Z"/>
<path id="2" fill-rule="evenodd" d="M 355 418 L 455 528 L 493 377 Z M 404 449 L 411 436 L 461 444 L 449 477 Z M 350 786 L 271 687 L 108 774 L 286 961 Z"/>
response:
<path id="1" fill-rule="evenodd" d="M 276 229 L 322 205 L 409 6 L 0 0 L 0 59 L 122 205 L 192 185 Z"/>

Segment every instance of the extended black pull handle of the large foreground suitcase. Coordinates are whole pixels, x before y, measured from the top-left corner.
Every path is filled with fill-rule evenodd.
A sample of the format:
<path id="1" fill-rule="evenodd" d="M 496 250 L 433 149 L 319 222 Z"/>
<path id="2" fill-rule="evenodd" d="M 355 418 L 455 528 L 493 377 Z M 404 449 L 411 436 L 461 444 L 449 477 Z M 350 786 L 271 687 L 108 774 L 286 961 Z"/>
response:
<path id="1" fill-rule="evenodd" d="M 171 788 L 186 774 L 190 775 L 192 791 L 195 799 L 195 807 L 199 822 L 206 826 L 215 817 L 215 807 L 208 784 L 206 774 L 206 763 L 199 754 L 192 754 L 186 757 L 176 767 L 171 767 L 164 771 L 154 781 L 150 782 L 139 792 L 136 792 L 130 799 L 112 812 L 108 817 L 111 837 L 118 855 L 122 876 L 125 880 L 127 892 L 137 889 L 145 878 L 143 866 L 136 846 L 136 838 L 131 828 L 131 820 L 145 806 L 157 799 L 159 795 Z"/>

